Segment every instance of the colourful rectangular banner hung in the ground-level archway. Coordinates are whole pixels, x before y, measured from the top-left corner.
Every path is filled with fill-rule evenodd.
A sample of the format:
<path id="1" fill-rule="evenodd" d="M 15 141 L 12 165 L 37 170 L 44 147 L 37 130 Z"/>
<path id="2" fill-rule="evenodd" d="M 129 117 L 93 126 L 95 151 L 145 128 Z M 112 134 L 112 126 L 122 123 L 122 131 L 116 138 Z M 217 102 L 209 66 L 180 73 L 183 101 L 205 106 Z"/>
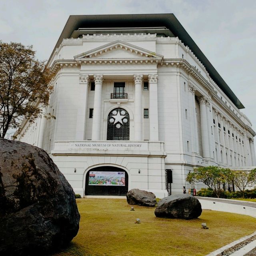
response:
<path id="1" fill-rule="evenodd" d="M 89 172 L 90 186 L 125 186 L 125 172 Z"/>

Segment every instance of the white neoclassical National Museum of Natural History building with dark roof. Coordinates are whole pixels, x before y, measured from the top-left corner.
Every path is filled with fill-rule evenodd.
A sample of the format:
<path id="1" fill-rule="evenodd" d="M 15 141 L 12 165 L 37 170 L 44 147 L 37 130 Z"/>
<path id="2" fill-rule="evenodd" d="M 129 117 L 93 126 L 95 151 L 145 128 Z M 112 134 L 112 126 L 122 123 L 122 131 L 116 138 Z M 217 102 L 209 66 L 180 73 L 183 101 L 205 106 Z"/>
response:
<path id="1" fill-rule="evenodd" d="M 190 188 L 195 167 L 256 165 L 244 106 L 173 14 L 70 16 L 47 65 L 56 119 L 24 119 L 16 135 L 75 193 L 162 198 Z"/>

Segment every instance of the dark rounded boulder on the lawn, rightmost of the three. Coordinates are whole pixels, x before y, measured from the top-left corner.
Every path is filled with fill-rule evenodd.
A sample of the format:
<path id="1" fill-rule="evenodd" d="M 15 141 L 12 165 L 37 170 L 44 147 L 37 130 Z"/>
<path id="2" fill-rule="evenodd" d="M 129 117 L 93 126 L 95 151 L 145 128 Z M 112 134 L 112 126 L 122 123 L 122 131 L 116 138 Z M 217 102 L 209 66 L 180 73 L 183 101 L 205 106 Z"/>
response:
<path id="1" fill-rule="evenodd" d="M 156 217 L 194 219 L 202 213 L 202 207 L 197 198 L 191 195 L 178 194 L 161 199 L 156 206 Z"/>

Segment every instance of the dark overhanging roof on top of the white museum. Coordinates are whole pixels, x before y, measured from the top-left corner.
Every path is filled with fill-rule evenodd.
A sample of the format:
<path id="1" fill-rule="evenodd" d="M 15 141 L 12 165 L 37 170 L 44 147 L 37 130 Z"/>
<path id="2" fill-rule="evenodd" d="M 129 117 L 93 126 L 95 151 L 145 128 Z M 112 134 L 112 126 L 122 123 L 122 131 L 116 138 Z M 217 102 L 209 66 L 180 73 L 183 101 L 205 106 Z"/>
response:
<path id="1" fill-rule="evenodd" d="M 166 27 L 174 36 L 190 48 L 196 57 L 202 62 L 210 77 L 220 89 L 230 98 L 239 109 L 244 108 L 234 92 L 228 87 L 226 82 L 212 66 L 210 61 L 204 56 L 194 40 L 186 32 L 174 14 L 116 14 L 116 15 L 71 15 L 62 30 L 60 38 L 54 50 L 61 44 L 63 38 L 70 38 L 75 30 L 84 28 L 149 28 Z M 52 52 L 53 55 L 54 51 Z M 50 58 L 52 57 L 50 56 Z"/>

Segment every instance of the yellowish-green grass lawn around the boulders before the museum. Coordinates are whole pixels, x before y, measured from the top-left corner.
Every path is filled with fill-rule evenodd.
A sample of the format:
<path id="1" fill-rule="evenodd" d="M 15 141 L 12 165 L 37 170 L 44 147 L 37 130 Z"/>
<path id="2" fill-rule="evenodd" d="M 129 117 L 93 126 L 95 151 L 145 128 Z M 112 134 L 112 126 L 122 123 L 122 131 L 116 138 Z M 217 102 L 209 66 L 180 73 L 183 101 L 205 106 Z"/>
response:
<path id="1" fill-rule="evenodd" d="M 130 211 L 125 199 L 82 198 L 77 204 L 80 230 L 69 248 L 53 256 L 206 255 L 256 227 L 256 218 L 211 210 L 195 220 L 178 220 L 156 218 L 150 207 Z M 136 218 L 141 224 L 134 223 Z"/>

